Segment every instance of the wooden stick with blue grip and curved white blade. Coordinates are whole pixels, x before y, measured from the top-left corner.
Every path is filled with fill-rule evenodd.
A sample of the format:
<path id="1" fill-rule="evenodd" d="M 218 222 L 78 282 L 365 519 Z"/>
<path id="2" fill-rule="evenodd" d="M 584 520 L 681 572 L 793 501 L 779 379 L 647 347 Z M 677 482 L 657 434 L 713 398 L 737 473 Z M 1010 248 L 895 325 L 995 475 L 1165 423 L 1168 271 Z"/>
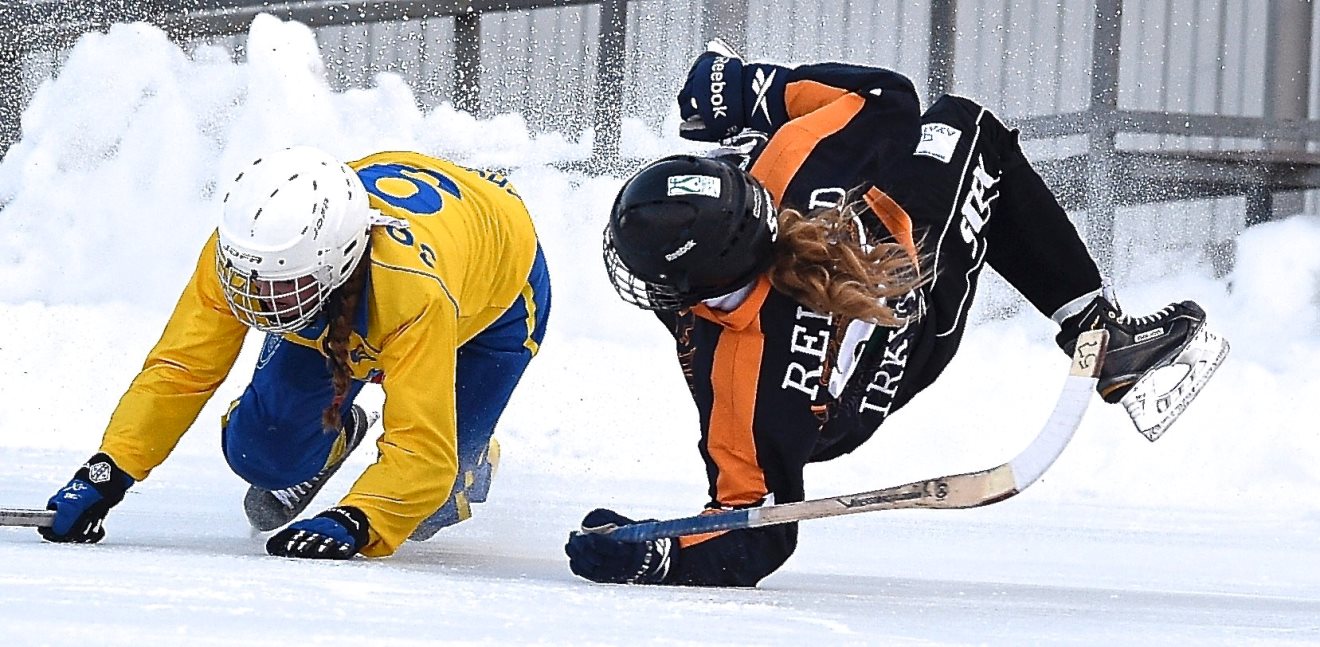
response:
<path id="1" fill-rule="evenodd" d="M 939 477 L 915 483 L 847 496 L 812 499 L 779 506 L 709 512 L 665 522 L 607 527 L 605 532 L 623 541 L 681 537 L 706 532 L 758 528 L 780 523 L 853 515 L 873 510 L 974 508 L 1005 500 L 1034 483 L 1059 458 L 1081 424 L 1105 359 L 1109 333 L 1089 330 L 1077 339 L 1063 393 L 1044 428 L 1027 449 L 1011 461 L 989 470 Z"/>

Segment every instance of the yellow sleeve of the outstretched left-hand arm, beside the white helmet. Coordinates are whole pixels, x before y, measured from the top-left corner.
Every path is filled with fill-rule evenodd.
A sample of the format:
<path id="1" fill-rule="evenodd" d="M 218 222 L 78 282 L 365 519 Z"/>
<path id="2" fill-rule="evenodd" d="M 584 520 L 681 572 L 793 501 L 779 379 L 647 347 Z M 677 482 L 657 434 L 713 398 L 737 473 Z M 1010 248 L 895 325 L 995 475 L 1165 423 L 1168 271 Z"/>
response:
<path id="1" fill-rule="evenodd" d="M 215 275 L 211 235 L 160 342 L 110 417 L 100 450 L 137 481 L 165 462 L 230 374 L 247 326 L 230 312 Z"/>

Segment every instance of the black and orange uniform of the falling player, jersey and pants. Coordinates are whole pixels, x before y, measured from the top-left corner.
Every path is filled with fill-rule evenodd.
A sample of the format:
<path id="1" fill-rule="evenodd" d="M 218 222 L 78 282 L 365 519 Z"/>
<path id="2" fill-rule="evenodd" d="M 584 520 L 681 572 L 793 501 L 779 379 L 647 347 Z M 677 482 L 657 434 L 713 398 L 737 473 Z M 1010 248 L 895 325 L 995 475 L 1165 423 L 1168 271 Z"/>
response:
<path id="1" fill-rule="evenodd" d="M 813 312 L 766 276 L 731 312 L 659 314 L 700 412 L 708 510 L 803 500 L 808 462 L 855 449 L 945 368 L 986 263 L 1045 313 L 1100 285 L 1016 135 L 981 106 L 945 96 L 919 116 L 911 82 L 873 67 L 812 65 L 784 81 L 770 92 L 784 108 L 767 111 L 784 121 L 751 173 L 801 210 L 859 190 L 865 235 L 900 243 L 929 279 L 891 304 L 902 327 Z M 1068 271 L 1043 279 L 1049 263 Z M 682 537 L 667 582 L 751 586 L 796 541 L 796 524 Z"/>

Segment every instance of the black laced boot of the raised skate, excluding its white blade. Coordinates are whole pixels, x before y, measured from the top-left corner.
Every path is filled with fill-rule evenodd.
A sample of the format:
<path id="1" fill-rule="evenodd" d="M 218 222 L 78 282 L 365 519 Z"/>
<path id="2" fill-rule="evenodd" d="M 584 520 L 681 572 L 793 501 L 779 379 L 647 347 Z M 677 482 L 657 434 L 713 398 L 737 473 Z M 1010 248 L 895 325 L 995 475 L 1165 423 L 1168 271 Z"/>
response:
<path id="1" fill-rule="evenodd" d="M 1072 354 L 1084 330 L 1109 330 L 1109 349 L 1096 391 L 1106 403 L 1117 403 L 1150 371 L 1168 366 L 1205 324 L 1205 312 L 1193 301 L 1170 304 L 1160 312 L 1133 318 L 1105 297 L 1064 321 L 1055 342 Z"/>

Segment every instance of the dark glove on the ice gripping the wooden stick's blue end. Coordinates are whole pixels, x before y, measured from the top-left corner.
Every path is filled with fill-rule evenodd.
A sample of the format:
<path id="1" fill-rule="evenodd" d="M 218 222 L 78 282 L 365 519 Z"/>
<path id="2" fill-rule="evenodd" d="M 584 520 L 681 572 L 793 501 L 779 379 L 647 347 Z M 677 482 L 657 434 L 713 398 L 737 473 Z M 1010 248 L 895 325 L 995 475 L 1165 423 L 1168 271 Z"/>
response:
<path id="1" fill-rule="evenodd" d="M 612 510 L 595 508 L 582 518 L 582 532 L 569 535 L 564 552 L 569 569 L 603 584 L 660 584 L 669 574 L 678 545 L 672 539 L 619 541 L 599 531 L 636 523 Z"/>

